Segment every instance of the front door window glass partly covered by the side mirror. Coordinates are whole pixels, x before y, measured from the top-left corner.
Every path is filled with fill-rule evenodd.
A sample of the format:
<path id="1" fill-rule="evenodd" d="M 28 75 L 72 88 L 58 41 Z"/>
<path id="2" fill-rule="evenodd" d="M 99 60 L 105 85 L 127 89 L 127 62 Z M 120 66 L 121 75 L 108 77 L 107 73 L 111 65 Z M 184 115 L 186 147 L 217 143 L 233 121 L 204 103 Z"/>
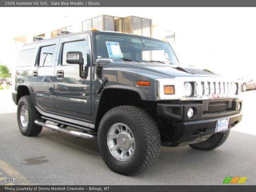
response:
<path id="1" fill-rule="evenodd" d="M 66 63 L 66 54 L 70 51 L 80 51 L 83 53 L 84 58 L 84 65 L 87 65 L 87 53 L 86 53 L 86 41 L 73 41 L 68 42 L 63 45 L 63 52 L 62 52 L 62 65 L 70 65 Z"/>

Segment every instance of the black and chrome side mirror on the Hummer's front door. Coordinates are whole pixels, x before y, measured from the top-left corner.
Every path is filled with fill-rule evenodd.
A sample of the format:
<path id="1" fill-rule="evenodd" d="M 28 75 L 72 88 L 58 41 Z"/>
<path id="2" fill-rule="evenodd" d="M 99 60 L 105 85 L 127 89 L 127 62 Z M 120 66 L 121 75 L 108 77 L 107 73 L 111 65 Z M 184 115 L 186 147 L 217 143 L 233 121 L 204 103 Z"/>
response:
<path id="1" fill-rule="evenodd" d="M 84 71 L 84 58 L 83 53 L 80 51 L 67 52 L 66 62 L 68 64 L 78 64 L 79 65 L 79 76 L 81 78 L 86 77 L 86 71 Z"/>

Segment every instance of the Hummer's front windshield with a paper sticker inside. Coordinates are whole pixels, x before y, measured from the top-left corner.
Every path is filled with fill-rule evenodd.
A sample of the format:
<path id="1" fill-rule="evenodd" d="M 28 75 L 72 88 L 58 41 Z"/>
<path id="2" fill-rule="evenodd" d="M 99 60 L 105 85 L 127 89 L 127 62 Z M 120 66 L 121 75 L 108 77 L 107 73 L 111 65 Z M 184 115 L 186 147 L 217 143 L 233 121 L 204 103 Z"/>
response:
<path id="1" fill-rule="evenodd" d="M 129 34 L 98 32 L 95 36 L 96 59 L 123 58 L 124 61 L 168 62 L 179 65 L 170 44 Z"/>

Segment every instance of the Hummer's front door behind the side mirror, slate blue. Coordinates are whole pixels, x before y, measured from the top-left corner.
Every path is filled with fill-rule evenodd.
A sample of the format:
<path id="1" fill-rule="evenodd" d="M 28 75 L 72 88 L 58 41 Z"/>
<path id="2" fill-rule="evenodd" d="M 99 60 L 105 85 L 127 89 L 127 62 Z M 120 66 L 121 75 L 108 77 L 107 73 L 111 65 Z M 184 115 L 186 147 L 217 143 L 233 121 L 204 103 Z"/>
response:
<path id="1" fill-rule="evenodd" d="M 91 82 L 90 36 L 74 36 L 60 40 L 58 65 L 55 68 L 55 105 L 57 113 L 92 121 L 93 100 Z M 82 52 L 84 68 L 88 65 L 87 78 L 79 76 L 79 65 L 66 63 L 66 54 Z"/>

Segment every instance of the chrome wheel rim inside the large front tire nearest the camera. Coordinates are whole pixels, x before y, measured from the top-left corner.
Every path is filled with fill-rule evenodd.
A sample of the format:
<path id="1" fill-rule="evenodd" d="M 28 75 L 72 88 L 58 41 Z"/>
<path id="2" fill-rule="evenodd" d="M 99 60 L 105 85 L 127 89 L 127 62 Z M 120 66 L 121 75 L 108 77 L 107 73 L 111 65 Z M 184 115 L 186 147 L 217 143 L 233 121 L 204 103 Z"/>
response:
<path id="1" fill-rule="evenodd" d="M 134 153 L 135 139 L 131 129 L 123 123 L 113 124 L 107 136 L 108 149 L 119 161 L 127 161 Z"/>

